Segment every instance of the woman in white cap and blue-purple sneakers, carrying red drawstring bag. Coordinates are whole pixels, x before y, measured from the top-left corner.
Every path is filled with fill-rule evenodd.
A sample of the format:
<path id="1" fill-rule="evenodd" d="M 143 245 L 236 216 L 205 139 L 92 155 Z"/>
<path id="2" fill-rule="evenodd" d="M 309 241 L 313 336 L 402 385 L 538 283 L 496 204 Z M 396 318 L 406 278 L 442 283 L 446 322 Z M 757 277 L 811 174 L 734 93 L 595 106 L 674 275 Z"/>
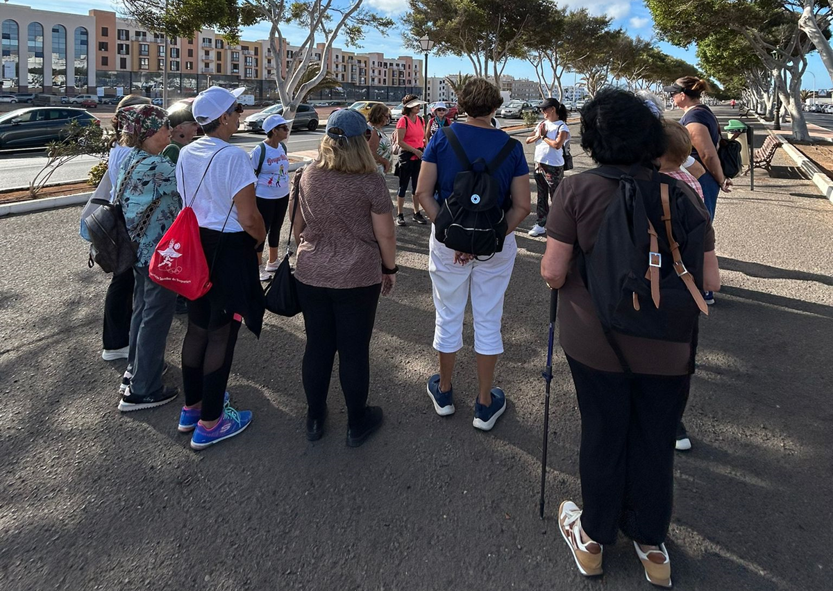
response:
<path id="1" fill-rule="evenodd" d="M 182 433 L 193 431 L 191 447 L 207 448 L 234 437 L 252 422 L 251 411 L 237 411 L 226 387 L 240 323 L 260 336 L 263 291 L 257 273 L 257 247 L 266 239 L 257 211 L 252 162 L 228 140 L 240 125 L 237 88 L 210 87 L 194 99 L 192 111 L 205 137 L 179 153 L 177 187 L 193 208 L 212 288 L 188 303 L 188 328 L 182 342 Z"/>

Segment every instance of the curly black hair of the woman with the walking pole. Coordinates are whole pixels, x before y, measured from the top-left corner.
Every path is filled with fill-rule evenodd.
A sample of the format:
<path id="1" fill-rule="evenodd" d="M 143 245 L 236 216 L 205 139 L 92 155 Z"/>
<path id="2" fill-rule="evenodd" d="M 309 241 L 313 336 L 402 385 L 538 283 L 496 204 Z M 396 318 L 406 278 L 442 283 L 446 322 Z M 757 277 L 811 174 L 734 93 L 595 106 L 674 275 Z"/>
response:
<path id="1" fill-rule="evenodd" d="M 581 109 L 581 148 L 599 164 L 650 165 L 666 152 L 666 136 L 641 98 L 604 88 Z"/>

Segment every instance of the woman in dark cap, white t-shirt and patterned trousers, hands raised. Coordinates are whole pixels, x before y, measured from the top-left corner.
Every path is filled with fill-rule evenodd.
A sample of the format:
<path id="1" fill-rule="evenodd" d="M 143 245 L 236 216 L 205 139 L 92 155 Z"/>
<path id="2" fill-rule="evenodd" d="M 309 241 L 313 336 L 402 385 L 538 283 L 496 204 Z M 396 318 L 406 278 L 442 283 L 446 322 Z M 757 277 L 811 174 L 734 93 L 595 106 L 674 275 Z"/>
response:
<path id="1" fill-rule="evenodd" d="M 546 233 L 546 214 L 550 212 L 552 196 L 558 183 L 564 178 L 564 144 L 570 139 L 567 127 L 567 108 L 555 98 L 545 98 L 541 103 L 544 120 L 535 129 L 526 143 L 535 143 L 535 183 L 538 188 L 538 216 L 530 236 Z"/>

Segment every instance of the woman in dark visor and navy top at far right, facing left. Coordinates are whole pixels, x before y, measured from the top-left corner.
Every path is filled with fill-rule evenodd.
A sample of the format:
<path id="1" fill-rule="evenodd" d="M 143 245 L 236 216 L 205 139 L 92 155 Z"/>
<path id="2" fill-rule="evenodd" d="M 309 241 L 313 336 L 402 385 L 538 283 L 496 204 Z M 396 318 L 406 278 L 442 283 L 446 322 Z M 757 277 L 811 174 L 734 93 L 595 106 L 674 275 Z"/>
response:
<path id="1" fill-rule="evenodd" d="M 703 189 L 706 209 L 714 221 L 717 196 L 721 189 L 731 193 L 732 182 L 731 178 L 723 175 L 721 159 L 717 156 L 717 145 L 721 140 L 720 123 L 717 123 L 711 109 L 700 102 L 701 95 L 709 93 L 711 86 L 696 76 L 684 76 L 663 90 L 671 94 L 674 104 L 685 112 L 680 123 L 686 126 L 691 136 L 691 156 L 706 169 L 697 180 Z M 715 303 L 713 293 L 706 291 L 703 297 L 709 305 Z"/>

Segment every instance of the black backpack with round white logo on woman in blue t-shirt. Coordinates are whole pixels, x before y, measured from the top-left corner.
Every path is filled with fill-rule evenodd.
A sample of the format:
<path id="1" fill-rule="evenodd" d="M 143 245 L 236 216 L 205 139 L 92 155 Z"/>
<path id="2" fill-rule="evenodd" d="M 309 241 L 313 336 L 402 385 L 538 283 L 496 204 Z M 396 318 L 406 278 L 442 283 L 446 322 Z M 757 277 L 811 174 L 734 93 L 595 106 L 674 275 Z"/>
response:
<path id="1" fill-rule="evenodd" d="M 441 128 L 462 166 L 454 178 L 454 190 L 440 207 L 434 221 L 436 239 L 452 250 L 491 257 L 503 250 L 507 208 L 501 208 L 501 187 L 491 173 L 501 167 L 515 149 L 516 139 L 506 140 L 491 163 L 483 158 L 470 163 L 451 127 Z M 506 196 L 504 204 L 510 203 Z"/>

